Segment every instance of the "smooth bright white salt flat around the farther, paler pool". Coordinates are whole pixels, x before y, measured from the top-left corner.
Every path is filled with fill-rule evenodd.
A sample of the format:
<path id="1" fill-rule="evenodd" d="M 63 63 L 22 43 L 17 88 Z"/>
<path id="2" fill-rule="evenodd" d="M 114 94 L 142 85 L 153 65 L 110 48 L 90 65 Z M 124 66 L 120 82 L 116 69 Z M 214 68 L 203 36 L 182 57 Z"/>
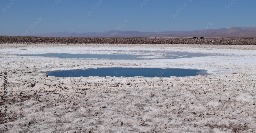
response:
<path id="1" fill-rule="evenodd" d="M 234 70 L 237 70 L 236 66 L 250 65 L 256 60 L 255 52 L 253 50 L 230 50 L 230 49 L 215 49 L 214 45 L 211 48 L 186 48 L 186 47 L 169 47 L 175 45 L 158 45 L 157 47 L 152 46 L 141 46 L 141 47 L 129 47 L 128 46 L 85 46 L 85 47 L 72 47 L 65 46 L 61 49 L 59 47 L 35 47 L 27 49 L 14 49 L 3 50 L 1 53 L 3 56 L 14 57 L 14 58 L 28 58 L 32 60 L 44 60 L 62 62 L 62 67 L 47 67 L 40 69 L 40 71 L 56 71 L 56 70 L 72 70 L 72 69 L 86 69 L 86 68 L 97 68 L 97 67 L 160 67 L 160 68 L 185 68 L 185 69 L 202 69 L 207 70 L 212 75 L 229 74 Z M 187 45 L 182 45 L 187 46 Z M 189 45 L 188 45 L 189 46 Z M 218 45 L 217 45 L 218 46 Z M 217 47 L 216 46 L 216 47 Z M 164 47 L 164 48 L 162 48 Z M 137 50 L 136 50 L 137 49 Z M 31 57 L 31 56 L 17 56 L 17 54 L 47 54 L 47 53 L 69 53 L 69 54 L 128 54 L 128 55 L 142 55 L 142 56 L 159 56 L 166 52 L 176 53 L 199 53 L 206 54 L 201 57 L 191 58 L 177 58 L 177 59 L 147 59 L 143 60 L 112 60 L 112 59 L 67 59 L 67 58 L 56 58 L 56 57 Z M 151 53 L 150 53 L 151 52 Z M 138 56 L 140 57 L 140 56 Z M 64 62 L 72 61 L 76 62 L 76 65 L 66 66 Z M 86 64 L 84 63 L 86 62 Z"/>

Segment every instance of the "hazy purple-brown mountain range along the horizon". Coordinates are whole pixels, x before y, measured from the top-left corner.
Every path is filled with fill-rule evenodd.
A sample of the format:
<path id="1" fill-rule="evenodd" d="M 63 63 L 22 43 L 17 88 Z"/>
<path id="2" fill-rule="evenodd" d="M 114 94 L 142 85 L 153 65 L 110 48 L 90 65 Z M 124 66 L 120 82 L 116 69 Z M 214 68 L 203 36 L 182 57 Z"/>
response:
<path id="1" fill-rule="evenodd" d="M 232 27 L 230 29 L 203 29 L 193 31 L 139 32 L 111 30 L 105 32 L 76 33 L 70 31 L 48 32 L 31 36 L 40 37 L 255 37 L 256 27 Z"/>

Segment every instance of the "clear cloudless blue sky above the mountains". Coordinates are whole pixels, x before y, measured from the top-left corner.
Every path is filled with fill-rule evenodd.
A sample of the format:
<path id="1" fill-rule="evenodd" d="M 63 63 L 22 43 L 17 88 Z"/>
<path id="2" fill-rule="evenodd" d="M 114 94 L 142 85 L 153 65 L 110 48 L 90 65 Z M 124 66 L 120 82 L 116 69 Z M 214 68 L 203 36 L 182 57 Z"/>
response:
<path id="1" fill-rule="evenodd" d="M 102 32 L 123 20 L 122 31 L 201 30 L 208 22 L 213 29 L 256 27 L 255 5 L 255 0 L 1 0 L 0 35 L 70 28 L 79 33 Z"/>

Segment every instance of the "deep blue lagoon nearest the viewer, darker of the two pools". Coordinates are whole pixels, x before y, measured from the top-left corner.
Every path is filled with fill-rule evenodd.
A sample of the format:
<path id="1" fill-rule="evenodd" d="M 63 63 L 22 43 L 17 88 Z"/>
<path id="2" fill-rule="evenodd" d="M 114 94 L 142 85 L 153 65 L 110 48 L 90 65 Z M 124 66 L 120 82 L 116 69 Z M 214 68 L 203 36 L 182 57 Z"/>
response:
<path id="1" fill-rule="evenodd" d="M 196 75 L 210 75 L 206 70 L 196 69 L 175 69 L 175 68 L 96 68 L 96 69 L 85 69 L 85 70 L 65 70 L 65 71 L 51 71 L 47 73 L 49 76 L 55 77 L 88 77 L 88 76 L 99 76 L 99 77 L 185 77 L 185 76 L 196 76 Z"/>

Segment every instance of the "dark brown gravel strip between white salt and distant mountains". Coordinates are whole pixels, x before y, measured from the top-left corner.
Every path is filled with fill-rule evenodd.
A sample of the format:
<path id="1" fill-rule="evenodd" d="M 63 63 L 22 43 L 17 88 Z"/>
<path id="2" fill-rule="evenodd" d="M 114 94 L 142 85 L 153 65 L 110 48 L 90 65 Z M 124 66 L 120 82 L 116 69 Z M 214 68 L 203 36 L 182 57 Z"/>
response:
<path id="1" fill-rule="evenodd" d="M 142 38 L 142 37 L 25 37 L 0 36 L 0 44 L 8 43 L 62 43 L 62 44 L 206 44 L 256 45 L 252 38 Z"/>

